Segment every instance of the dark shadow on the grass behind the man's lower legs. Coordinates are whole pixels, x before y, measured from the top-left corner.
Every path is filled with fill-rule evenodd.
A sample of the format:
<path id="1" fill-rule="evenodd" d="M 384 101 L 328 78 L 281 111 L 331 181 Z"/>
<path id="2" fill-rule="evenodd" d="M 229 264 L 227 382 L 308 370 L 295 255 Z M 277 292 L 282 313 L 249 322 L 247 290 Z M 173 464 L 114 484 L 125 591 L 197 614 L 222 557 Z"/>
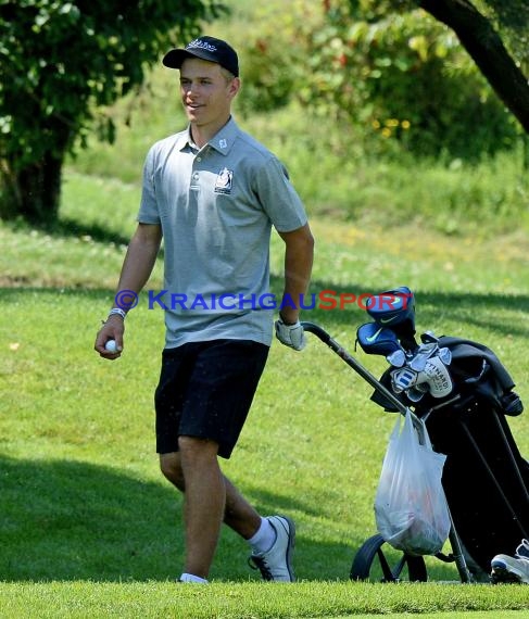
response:
<path id="1" fill-rule="evenodd" d="M 165 581 L 179 576 L 180 497 L 165 482 L 89 463 L 0 456 L 0 581 Z M 252 494 L 264 514 L 314 511 L 303 500 L 260 490 Z M 348 578 L 347 546 L 308 540 L 299 545 L 300 557 L 307 557 L 304 578 Z M 340 553 L 345 567 L 335 564 Z M 248 555 L 247 544 L 224 528 L 213 577 L 260 580 L 247 565 Z M 322 573 L 326 557 L 330 571 Z"/>

